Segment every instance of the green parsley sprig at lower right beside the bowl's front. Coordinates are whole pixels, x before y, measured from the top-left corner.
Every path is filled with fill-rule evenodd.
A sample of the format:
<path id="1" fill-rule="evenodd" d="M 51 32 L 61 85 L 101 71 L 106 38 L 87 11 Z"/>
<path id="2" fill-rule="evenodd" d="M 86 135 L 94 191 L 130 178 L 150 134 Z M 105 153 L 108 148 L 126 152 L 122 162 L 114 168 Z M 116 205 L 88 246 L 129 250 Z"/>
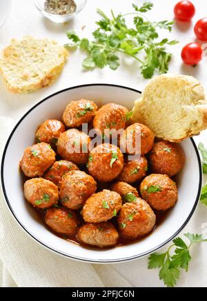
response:
<path id="1" fill-rule="evenodd" d="M 172 240 L 173 245 L 170 245 L 165 253 L 153 253 L 148 258 L 148 269 L 159 268 L 159 279 L 164 281 L 167 287 L 175 287 L 180 276 L 180 269 L 188 271 L 188 265 L 191 260 L 190 247 L 197 242 L 206 242 L 201 234 L 185 233 L 188 238 L 188 245 L 182 238 L 177 237 Z M 174 253 L 170 250 L 175 248 Z"/>

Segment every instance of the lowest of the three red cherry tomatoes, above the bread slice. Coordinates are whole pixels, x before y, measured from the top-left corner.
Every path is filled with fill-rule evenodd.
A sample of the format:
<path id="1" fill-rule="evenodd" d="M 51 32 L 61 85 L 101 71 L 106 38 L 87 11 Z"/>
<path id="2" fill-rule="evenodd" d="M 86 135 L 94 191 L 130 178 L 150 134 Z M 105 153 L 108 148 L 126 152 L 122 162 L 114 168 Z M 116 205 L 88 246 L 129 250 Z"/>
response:
<path id="1" fill-rule="evenodd" d="M 181 58 L 187 65 L 196 65 L 202 59 L 203 50 L 198 43 L 189 43 L 181 51 Z"/>

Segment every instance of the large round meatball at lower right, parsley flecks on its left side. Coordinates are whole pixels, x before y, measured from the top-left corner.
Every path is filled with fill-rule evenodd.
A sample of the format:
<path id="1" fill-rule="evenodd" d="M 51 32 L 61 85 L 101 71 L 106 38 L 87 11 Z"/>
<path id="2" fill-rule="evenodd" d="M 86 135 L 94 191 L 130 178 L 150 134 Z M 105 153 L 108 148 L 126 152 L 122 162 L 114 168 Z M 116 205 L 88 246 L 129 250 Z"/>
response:
<path id="1" fill-rule="evenodd" d="M 150 205 L 139 198 L 136 203 L 125 203 L 119 211 L 117 220 L 121 236 L 138 238 L 152 231 L 156 216 Z"/>

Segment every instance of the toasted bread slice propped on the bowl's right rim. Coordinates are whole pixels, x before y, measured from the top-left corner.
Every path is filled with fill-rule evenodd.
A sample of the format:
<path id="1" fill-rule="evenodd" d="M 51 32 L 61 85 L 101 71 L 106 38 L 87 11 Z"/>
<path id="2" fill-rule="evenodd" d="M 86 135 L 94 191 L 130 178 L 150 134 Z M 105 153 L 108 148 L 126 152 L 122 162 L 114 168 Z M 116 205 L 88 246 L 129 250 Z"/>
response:
<path id="1" fill-rule="evenodd" d="M 193 76 L 157 76 L 135 101 L 132 122 L 144 123 L 167 141 L 180 142 L 197 135 L 207 128 L 204 89 Z"/>

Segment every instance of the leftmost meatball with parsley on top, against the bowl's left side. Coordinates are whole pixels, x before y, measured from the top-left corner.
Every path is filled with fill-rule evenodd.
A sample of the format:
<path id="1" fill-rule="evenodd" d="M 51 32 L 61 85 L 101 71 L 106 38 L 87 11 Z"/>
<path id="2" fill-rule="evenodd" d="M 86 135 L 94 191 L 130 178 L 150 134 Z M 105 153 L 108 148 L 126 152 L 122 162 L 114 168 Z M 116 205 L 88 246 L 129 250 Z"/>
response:
<path id="1" fill-rule="evenodd" d="M 29 178 L 43 176 L 55 162 L 55 152 L 49 144 L 41 142 L 27 147 L 19 163 L 23 173 Z"/>

